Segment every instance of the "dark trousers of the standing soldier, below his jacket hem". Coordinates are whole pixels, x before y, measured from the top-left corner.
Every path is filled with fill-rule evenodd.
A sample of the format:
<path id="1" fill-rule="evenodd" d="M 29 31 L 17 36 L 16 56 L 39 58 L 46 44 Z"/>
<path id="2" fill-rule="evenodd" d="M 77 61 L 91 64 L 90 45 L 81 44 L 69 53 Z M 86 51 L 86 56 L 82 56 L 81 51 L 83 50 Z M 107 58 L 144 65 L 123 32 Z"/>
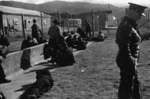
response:
<path id="1" fill-rule="evenodd" d="M 120 70 L 120 86 L 118 90 L 118 99 L 142 99 L 140 82 L 138 75 Z"/>

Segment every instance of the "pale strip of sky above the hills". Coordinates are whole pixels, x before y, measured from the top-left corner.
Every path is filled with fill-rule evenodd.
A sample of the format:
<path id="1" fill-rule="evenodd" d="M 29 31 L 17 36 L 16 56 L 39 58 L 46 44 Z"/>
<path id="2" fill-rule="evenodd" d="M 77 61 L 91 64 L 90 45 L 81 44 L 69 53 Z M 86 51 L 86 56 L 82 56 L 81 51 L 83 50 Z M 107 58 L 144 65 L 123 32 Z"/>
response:
<path id="1" fill-rule="evenodd" d="M 19 1 L 25 3 L 32 3 L 32 4 L 40 4 L 49 1 L 58 1 L 58 0 L 0 0 L 0 1 Z M 128 6 L 128 2 L 137 3 L 140 5 L 144 5 L 150 7 L 150 0 L 59 0 L 59 1 L 67 1 L 67 2 L 88 2 L 88 3 L 95 3 L 95 4 L 112 4 L 114 6 Z"/>

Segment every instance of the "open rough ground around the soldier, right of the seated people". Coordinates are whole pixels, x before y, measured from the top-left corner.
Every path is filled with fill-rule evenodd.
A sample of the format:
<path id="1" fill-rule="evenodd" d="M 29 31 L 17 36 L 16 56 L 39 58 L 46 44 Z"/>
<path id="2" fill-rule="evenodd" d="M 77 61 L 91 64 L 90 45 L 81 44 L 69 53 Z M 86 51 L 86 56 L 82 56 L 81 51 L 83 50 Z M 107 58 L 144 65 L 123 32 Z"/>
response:
<path id="1" fill-rule="evenodd" d="M 150 40 L 141 44 L 139 79 L 143 99 L 150 98 Z M 52 72 L 54 86 L 40 99 L 117 99 L 119 70 L 115 31 L 104 42 L 94 42 L 75 56 L 73 66 L 60 67 Z"/>

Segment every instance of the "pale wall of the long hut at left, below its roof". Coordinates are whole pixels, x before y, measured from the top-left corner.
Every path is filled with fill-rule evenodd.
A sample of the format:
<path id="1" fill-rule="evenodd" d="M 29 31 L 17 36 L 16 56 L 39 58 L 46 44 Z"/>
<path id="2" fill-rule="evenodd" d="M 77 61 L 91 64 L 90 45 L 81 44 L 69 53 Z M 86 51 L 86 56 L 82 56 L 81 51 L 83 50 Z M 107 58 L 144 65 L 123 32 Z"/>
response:
<path id="1" fill-rule="evenodd" d="M 22 29 L 22 17 L 20 15 L 13 14 L 2 14 L 3 19 L 3 29 L 4 33 L 8 37 L 23 37 Z M 24 15 L 24 28 L 25 35 L 31 35 L 31 26 L 33 25 L 33 19 L 37 20 L 37 25 L 41 28 L 41 17 L 40 16 L 31 16 Z M 43 21 L 43 32 L 47 32 L 47 29 L 51 26 L 50 17 L 42 17 Z"/>

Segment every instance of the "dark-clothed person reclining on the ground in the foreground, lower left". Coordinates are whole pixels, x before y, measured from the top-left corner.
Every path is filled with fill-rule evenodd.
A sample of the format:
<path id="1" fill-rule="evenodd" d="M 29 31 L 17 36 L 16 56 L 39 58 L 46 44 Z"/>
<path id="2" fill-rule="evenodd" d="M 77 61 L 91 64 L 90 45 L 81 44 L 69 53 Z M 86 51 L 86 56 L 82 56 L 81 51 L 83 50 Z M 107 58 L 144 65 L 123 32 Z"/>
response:
<path id="1" fill-rule="evenodd" d="M 20 99 L 40 98 L 41 95 L 52 88 L 53 82 L 51 73 L 48 70 L 36 71 L 36 82 L 20 96 Z"/>

